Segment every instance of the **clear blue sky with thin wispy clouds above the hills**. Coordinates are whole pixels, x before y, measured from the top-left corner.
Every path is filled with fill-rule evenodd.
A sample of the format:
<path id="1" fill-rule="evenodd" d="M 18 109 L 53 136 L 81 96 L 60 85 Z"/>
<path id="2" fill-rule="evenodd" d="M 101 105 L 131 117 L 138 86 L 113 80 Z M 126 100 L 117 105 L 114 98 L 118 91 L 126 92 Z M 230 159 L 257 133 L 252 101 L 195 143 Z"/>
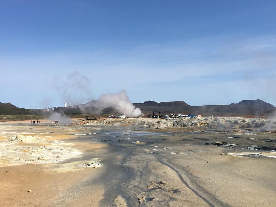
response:
<path id="1" fill-rule="evenodd" d="M 0 102 L 276 106 L 275 1 L 0 1 Z"/>

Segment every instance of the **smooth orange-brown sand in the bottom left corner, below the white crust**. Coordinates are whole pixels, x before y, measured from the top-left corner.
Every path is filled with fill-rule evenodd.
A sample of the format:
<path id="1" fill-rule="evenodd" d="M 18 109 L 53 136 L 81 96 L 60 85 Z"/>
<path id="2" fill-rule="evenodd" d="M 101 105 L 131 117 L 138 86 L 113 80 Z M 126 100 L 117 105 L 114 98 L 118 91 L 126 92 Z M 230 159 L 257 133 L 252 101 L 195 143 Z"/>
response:
<path id="1" fill-rule="evenodd" d="M 2 167 L 0 205 L 97 206 L 103 198 L 100 186 L 84 189 L 80 181 L 96 179 L 98 169 L 62 173 L 49 172 L 47 166 L 36 164 Z"/>

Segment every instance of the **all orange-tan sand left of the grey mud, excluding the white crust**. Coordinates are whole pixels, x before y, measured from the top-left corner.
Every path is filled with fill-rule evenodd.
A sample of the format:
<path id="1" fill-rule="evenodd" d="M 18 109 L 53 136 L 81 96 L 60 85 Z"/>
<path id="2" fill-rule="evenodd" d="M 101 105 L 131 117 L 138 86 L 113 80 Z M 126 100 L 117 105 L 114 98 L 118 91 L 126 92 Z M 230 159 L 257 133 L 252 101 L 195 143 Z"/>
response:
<path id="1" fill-rule="evenodd" d="M 16 123 L 19 122 L 14 122 L 13 124 Z M 21 125 L 11 125 L 10 123 L 1 124 L 0 143 L 3 145 L 7 140 L 13 139 L 18 134 L 24 134 L 27 137 L 38 136 L 42 140 L 51 139 L 52 141 L 58 141 L 57 143 L 61 144 L 58 146 L 63 149 L 66 149 L 69 145 L 70 148 L 74 148 L 74 150 L 80 152 L 75 157 L 82 156 L 83 152 L 89 150 L 106 147 L 105 143 L 73 141 L 72 139 L 78 138 L 78 135 L 72 135 L 77 134 L 77 130 L 67 129 L 68 131 L 66 132 L 64 131 L 64 127 L 54 126 L 49 128 L 49 126 L 42 124 L 34 126 L 24 125 L 25 123 L 21 122 Z M 65 128 L 67 127 L 65 126 Z M 71 139 L 70 143 L 65 141 L 68 138 Z M 24 150 L 30 147 L 40 148 L 43 145 L 50 146 L 51 144 L 55 145 L 57 143 L 45 143 L 42 141 L 9 143 L 7 146 L 12 148 L 23 147 Z M 64 156 L 65 152 L 60 151 L 59 156 Z M 22 152 L 21 150 L 14 159 L 24 159 L 25 156 L 28 156 L 26 153 L 30 154 L 30 156 L 35 156 L 33 150 L 29 152 Z M 100 167 L 84 168 L 78 166 L 91 162 L 91 160 L 74 160 L 72 162 L 66 162 L 68 159 L 65 162 L 63 160 L 59 162 L 55 160 L 52 162 L 51 160 L 41 160 L 39 162 L 40 164 L 32 164 L 31 161 L 26 162 L 27 164 L 5 161 L 7 160 L 3 159 L 2 156 L 2 159 L 0 158 L 0 166 L 2 166 L 0 167 L 0 206 L 68 206 L 68 204 L 70 206 L 97 206 L 99 200 L 102 199 L 103 191 L 101 191 L 99 186 L 81 187 L 82 183 L 85 183 L 87 180 L 97 179 L 97 172 L 101 171 Z M 28 192 L 29 190 L 31 192 Z M 66 193 L 69 191 L 70 194 Z"/>

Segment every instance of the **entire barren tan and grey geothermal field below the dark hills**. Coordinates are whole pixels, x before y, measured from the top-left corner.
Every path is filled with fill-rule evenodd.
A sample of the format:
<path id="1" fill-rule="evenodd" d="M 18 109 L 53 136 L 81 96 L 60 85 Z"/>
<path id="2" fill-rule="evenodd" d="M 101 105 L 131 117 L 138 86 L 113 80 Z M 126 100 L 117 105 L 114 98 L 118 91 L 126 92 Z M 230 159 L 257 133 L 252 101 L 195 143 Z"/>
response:
<path id="1" fill-rule="evenodd" d="M 0 206 L 276 206 L 274 122 L 214 119 L 1 123 Z"/>

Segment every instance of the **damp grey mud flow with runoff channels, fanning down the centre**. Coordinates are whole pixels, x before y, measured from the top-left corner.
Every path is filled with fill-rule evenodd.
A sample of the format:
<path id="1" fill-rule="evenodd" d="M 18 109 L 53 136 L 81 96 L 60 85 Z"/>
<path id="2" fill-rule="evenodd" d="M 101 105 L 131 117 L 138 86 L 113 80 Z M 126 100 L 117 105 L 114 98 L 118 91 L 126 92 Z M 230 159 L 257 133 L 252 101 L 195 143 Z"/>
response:
<path id="1" fill-rule="evenodd" d="M 256 159 L 256 150 L 248 147 L 258 144 L 274 149 L 276 143 L 276 136 L 270 133 L 158 132 L 138 131 L 129 127 L 103 127 L 95 130 L 95 133 L 90 137 L 81 136 L 79 141 L 109 144 L 104 151 L 101 150 L 100 155 L 97 151 L 91 154 L 92 157 L 102 158 L 104 168 L 96 183 L 91 181 L 84 184 L 104 184 L 105 199 L 101 201 L 101 206 L 110 206 L 118 195 L 124 198 L 127 206 L 229 206 L 198 185 L 189 166 L 183 166 L 179 159 L 217 147 L 223 153 L 235 153 L 237 150 L 252 152 L 252 157 Z M 253 141 L 248 139 L 252 136 Z M 267 142 L 256 143 L 257 138 Z M 136 144 L 135 141 L 141 143 Z M 225 143 L 218 146 L 213 144 L 217 142 Z M 264 156 L 259 159 L 273 158 Z M 170 171 L 170 174 L 165 171 Z M 160 181 L 165 184 L 160 185 Z M 147 186 L 153 188 L 148 189 Z"/>

